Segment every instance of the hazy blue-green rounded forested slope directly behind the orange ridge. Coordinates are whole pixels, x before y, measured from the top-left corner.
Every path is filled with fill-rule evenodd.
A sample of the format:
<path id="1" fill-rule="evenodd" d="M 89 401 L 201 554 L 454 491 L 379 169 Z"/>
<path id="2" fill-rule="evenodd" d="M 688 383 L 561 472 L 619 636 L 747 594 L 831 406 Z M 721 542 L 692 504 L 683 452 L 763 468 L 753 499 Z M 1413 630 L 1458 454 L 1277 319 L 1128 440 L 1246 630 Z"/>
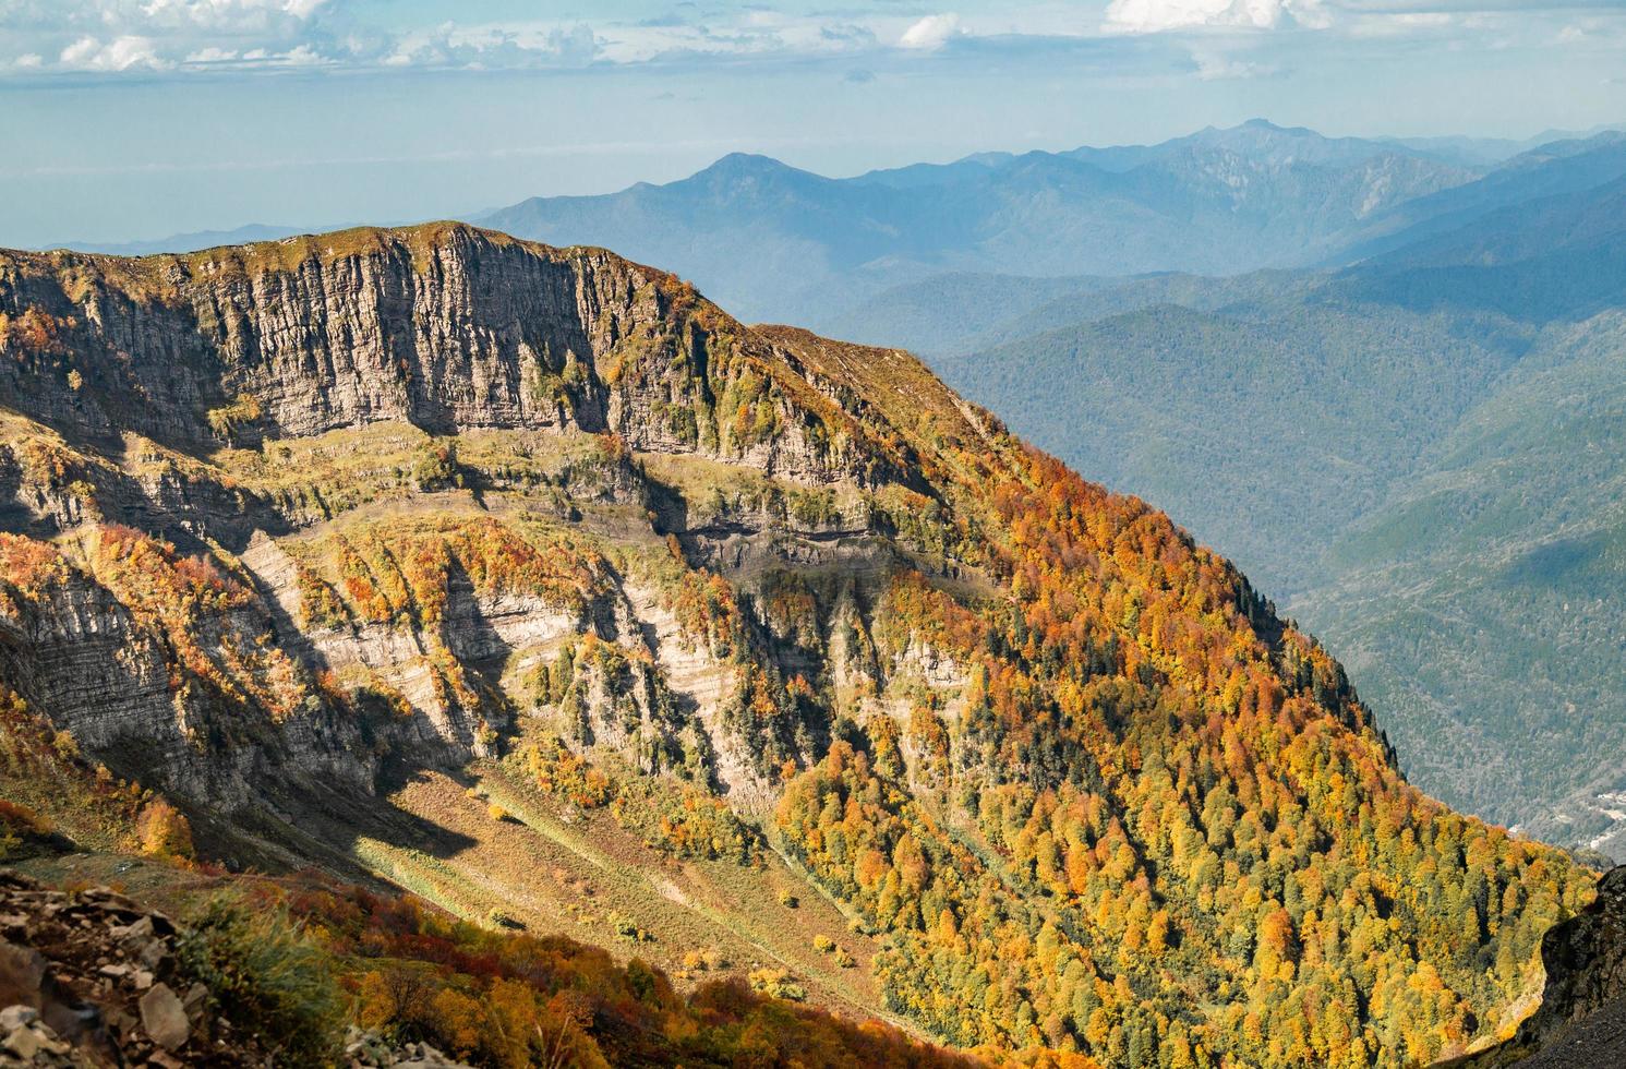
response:
<path id="1" fill-rule="evenodd" d="M 1376 508 L 1527 345 L 1501 324 L 1467 334 L 1328 298 L 1320 278 L 1306 288 L 1307 299 L 1226 311 L 1154 303 L 933 363 L 1094 478 L 1169 503 L 1288 596 L 1320 568 L 1294 553 Z M 1140 299 L 1130 286 L 1102 298 Z"/>

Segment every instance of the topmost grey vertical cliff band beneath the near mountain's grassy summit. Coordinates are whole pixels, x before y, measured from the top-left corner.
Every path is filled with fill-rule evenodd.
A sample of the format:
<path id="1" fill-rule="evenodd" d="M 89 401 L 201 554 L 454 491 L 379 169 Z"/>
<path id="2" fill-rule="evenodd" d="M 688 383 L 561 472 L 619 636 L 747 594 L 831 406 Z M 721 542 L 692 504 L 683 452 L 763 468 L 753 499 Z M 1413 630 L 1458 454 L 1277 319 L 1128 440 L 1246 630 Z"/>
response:
<path id="1" fill-rule="evenodd" d="M 0 395 L 93 436 L 255 444 L 395 420 L 613 431 L 806 482 L 888 467 L 772 374 L 782 353 L 670 275 L 468 226 L 0 254 L 0 314 L 21 338 Z"/>

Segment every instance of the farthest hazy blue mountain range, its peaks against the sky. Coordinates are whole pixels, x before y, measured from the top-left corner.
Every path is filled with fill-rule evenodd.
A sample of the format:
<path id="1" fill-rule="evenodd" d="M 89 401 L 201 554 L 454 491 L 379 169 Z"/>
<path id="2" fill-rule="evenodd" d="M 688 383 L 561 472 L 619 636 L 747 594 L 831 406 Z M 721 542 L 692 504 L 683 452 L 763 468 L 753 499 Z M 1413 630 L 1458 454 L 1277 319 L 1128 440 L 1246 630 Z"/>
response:
<path id="1" fill-rule="evenodd" d="M 678 270 L 745 316 L 826 325 L 889 285 L 940 272 L 1304 264 L 1363 220 L 1476 174 L 1255 120 L 1156 146 L 987 153 L 852 179 L 732 155 L 668 185 L 537 197 L 480 221 L 606 244 Z"/>

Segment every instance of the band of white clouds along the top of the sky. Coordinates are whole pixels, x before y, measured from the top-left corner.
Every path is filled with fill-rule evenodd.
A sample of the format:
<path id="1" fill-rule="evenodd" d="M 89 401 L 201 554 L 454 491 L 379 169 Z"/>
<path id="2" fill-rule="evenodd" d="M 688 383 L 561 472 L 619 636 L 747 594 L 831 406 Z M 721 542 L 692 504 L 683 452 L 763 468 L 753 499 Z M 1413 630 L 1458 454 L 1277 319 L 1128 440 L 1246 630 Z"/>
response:
<path id="1" fill-rule="evenodd" d="M 948 3 L 950 0 L 937 0 Z M 436 24 L 379 0 L 0 0 L 0 78 L 49 78 L 117 72 L 195 73 L 280 70 L 304 65 L 367 72 L 390 68 L 533 70 L 589 63 L 706 63 L 712 60 L 836 60 L 850 70 L 885 65 L 886 52 L 933 54 L 958 42 L 1021 54 L 1028 47 L 1094 47 L 1102 36 L 1187 34 L 1210 47 L 1215 37 L 1272 29 L 1335 28 L 1351 39 L 1463 37 L 1489 33 L 1475 8 L 1499 8 L 1509 21 L 1515 5 L 1582 5 L 1615 11 L 1626 0 L 1101 0 L 1104 18 L 1080 18 L 1063 0 L 1016 0 L 961 18 L 951 11 L 902 15 L 885 5 L 828 11 L 785 5 L 712 5 L 704 18 L 608 18 L 589 28 L 525 15 L 498 15 L 494 5 L 465 0 L 446 5 L 455 21 Z M 546 7 L 546 5 L 537 5 Z M 730 10 L 738 7 L 740 10 Z M 930 8 L 927 8 L 930 10 Z M 1522 7 L 1519 8 L 1522 10 Z M 436 16 L 444 18 L 444 15 Z M 1618 16 L 1606 39 L 1618 39 Z M 1520 23 L 1522 24 L 1522 23 Z M 1589 21 L 1567 15 L 1550 23 L 1541 42 L 1579 47 Z M 1507 28 L 1498 23 L 1494 28 Z M 1517 29 L 1519 26 L 1512 26 Z M 1507 34 L 1504 34 L 1507 36 Z M 1603 37 L 1600 37 L 1603 41 Z M 1598 47 L 1603 47 L 1600 44 Z M 1133 49 L 1130 50 L 1133 52 Z M 1130 54 L 1125 52 L 1125 54 Z M 34 57 L 31 62 L 26 57 Z M 1197 62 L 1203 78 L 1275 73 L 1210 57 Z"/>

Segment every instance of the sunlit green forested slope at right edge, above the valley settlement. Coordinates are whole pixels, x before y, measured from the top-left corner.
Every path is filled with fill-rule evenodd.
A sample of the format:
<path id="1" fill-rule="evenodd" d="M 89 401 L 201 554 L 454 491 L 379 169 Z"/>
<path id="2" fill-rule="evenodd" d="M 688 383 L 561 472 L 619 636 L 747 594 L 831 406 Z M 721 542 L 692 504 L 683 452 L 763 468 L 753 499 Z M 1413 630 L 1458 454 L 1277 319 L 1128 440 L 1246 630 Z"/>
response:
<path id="1" fill-rule="evenodd" d="M 1419 477 L 1333 545 L 1337 582 L 1294 605 L 1340 636 L 1397 737 L 1433 740 L 1411 747 L 1413 774 L 1610 851 L 1623 833 L 1610 796 L 1626 789 L 1611 742 L 1626 718 L 1611 594 L 1623 355 L 1619 311 L 1551 327 Z"/>

